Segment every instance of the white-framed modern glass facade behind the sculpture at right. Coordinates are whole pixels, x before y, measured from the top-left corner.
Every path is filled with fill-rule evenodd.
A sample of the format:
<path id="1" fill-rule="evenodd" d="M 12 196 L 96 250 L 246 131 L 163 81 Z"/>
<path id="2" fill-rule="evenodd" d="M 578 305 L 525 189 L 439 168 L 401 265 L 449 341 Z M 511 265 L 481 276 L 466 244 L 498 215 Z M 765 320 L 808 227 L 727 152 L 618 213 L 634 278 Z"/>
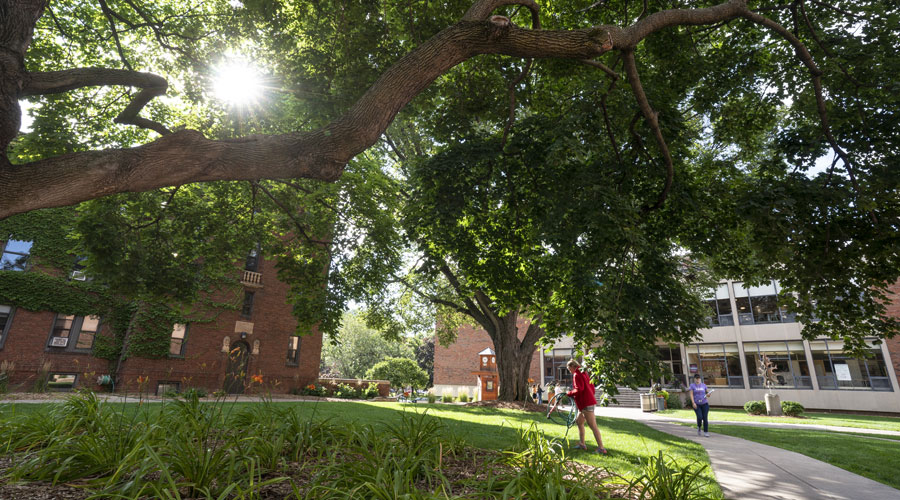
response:
<path id="1" fill-rule="evenodd" d="M 763 399 L 762 355 L 774 364 L 781 400 L 807 408 L 900 413 L 900 387 L 885 343 L 867 341 L 869 357 L 854 358 L 840 340 L 804 340 L 803 325 L 778 304 L 778 283 L 720 283 L 709 294 L 710 327 L 702 340 L 660 346 L 678 378 L 699 373 L 715 388 L 711 403 L 742 406 Z M 895 354 L 896 355 L 896 354 Z"/>

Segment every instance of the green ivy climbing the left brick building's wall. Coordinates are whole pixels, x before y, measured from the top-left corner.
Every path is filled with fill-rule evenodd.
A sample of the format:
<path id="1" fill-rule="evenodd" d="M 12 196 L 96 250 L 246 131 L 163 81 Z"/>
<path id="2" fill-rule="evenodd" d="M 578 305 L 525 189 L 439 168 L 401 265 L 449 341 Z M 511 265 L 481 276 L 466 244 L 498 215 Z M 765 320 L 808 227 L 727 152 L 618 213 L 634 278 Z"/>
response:
<path id="1" fill-rule="evenodd" d="M 173 324 L 213 321 L 219 312 L 239 307 L 240 284 L 229 276 L 218 279 L 191 273 L 181 276 L 195 281 L 192 286 L 198 290 L 206 291 L 197 294 L 196 301 L 186 308 L 168 303 L 166 297 L 137 298 L 116 293 L 100 281 L 70 280 L 74 249 L 79 246 L 73 236 L 78 234 L 73 229 L 77 217 L 75 210 L 67 207 L 29 212 L 0 221 L 0 241 L 15 239 L 33 243 L 29 270 L 0 271 L 0 303 L 30 311 L 101 316 L 107 328 L 96 336 L 93 355 L 110 361 L 111 365 L 120 359 L 125 345 L 128 346 L 125 357 L 164 358 L 169 354 Z"/>

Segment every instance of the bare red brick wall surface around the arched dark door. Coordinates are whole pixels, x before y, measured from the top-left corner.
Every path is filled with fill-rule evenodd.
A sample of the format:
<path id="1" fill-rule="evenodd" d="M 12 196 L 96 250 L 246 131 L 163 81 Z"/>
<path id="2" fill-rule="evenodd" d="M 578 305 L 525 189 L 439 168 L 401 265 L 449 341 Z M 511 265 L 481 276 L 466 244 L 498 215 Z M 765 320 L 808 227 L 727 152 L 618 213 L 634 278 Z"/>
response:
<path id="1" fill-rule="evenodd" d="M 146 388 L 151 393 L 161 381 L 179 382 L 182 389 L 222 389 L 227 366 L 227 353 L 222 352 L 223 339 L 228 336 L 232 343 L 239 339 L 239 334 L 234 331 L 236 321 L 253 323 L 253 332 L 246 339 L 251 349 L 254 341 L 259 341 L 259 354 L 250 355 L 247 373 L 261 374 L 263 387 L 254 384 L 252 389 L 284 393 L 315 382 L 319 374 L 322 335 L 314 329 L 311 335 L 301 337 L 298 366 L 287 365 L 288 340 L 296 328 L 291 306 L 285 302 L 288 286 L 275 279 L 273 262 L 262 261 L 259 270 L 262 288 L 248 288 L 255 292 L 250 319 L 241 318 L 239 310 L 221 311 L 210 323 L 189 325 L 183 358 L 131 358 L 123 364 L 122 387 L 117 390 L 136 392 L 139 376 L 148 377 Z M 237 295 L 235 300 L 242 302 L 243 293 Z M 44 361 L 52 363 L 52 372 L 78 374 L 77 385 L 82 387 L 99 389 L 95 385 L 97 376 L 109 373 L 106 360 L 89 354 L 48 350 L 47 340 L 55 317 L 56 314 L 50 311 L 15 310 L 5 345 L 0 349 L 0 361 L 15 363 L 11 389 L 17 386 L 31 389 Z"/>

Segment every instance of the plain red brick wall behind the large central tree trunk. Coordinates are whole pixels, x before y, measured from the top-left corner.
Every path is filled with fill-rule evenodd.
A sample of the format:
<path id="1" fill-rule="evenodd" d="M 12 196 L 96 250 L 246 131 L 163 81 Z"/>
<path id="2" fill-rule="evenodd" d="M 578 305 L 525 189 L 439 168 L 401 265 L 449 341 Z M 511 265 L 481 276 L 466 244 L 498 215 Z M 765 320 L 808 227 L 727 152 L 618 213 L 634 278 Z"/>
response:
<path id="1" fill-rule="evenodd" d="M 525 336 L 529 321 L 520 319 L 518 322 L 519 338 Z M 478 353 L 487 349 L 494 349 L 494 343 L 487 332 L 480 327 L 463 325 L 457 334 L 456 342 L 449 347 L 440 345 L 434 341 L 434 384 L 435 385 L 475 385 L 476 378 L 473 371 L 478 370 L 480 361 Z M 494 349 L 496 351 L 496 349 Z M 529 377 L 541 380 L 540 349 L 536 349 L 531 358 Z"/>

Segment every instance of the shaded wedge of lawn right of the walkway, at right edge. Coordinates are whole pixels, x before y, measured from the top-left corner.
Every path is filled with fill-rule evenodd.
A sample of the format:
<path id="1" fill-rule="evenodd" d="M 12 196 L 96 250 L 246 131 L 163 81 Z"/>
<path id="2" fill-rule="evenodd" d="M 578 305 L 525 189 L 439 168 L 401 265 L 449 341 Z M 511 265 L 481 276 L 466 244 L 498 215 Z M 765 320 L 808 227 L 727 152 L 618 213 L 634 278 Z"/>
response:
<path id="1" fill-rule="evenodd" d="M 715 432 L 802 453 L 860 476 L 900 488 L 900 442 L 841 432 L 717 425 Z M 900 492 L 897 493 L 900 497 Z"/>

